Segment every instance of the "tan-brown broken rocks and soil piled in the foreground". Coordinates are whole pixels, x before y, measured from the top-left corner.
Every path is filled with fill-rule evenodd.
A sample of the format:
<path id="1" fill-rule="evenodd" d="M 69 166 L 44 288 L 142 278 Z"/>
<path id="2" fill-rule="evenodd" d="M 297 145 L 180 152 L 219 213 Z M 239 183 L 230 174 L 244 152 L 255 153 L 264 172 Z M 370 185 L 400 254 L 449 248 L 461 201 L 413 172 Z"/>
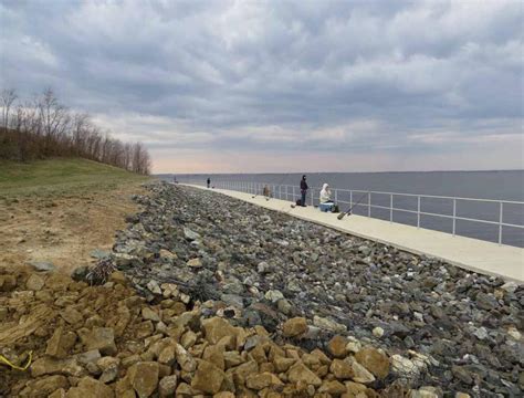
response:
<path id="1" fill-rule="evenodd" d="M 164 286 L 168 292 L 172 286 Z M 170 295 L 170 294 L 167 294 Z M 27 371 L 0 365 L 4 397 L 378 397 L 390 358 L 335 336 L 323 352 L 292 344 L 306 320 L 280 327 L 275 343 L 262 326 L 239 327 L 202 316 L 205 305 L 172 297 L 148 304 L 120 272 L 102 286 L 59 273 L 0 269 L 0 353 Z M 425 387 L 412 397 L 437 397 Z M 400 394 L 400 395 L 398 395 Z"/>

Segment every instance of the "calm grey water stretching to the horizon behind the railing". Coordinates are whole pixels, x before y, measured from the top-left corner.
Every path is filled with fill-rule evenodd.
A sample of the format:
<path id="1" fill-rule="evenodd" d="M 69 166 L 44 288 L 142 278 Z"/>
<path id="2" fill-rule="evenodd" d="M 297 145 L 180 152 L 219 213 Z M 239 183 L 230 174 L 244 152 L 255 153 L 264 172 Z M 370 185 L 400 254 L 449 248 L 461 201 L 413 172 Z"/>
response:
<path id="1" fill-rule="evenodd" d="M 170 178 L 166 175 L 161 176 Z M 201 182 L 210 177 L 212 181 L 258 181 L 274 185 L 298 186 L 302 174 L 242 174 L 242 175 L 177 175 L 180 182 Z M 524 170 L 510 171 L 432 171 L 432 172 L 324 172 L 307 174 L 310 187 L 321 187 L 323 182 L 332 188 L 364 191 L 450 196 L 460 198 L 495 199 L 524 202 Z M 298 193 L 298 189 L 295 190 Z M 363 193 L 354 192 L 355 202 Z M 318 202 L 318 190 L 314 190 L 314 203 Z M 290 197 L 291 200 L 291 197 Z M 338 200 L 349 201 L 349 193 L 339 192 Z M 307 198 L 311 203 L 311 192 Z M 389 195 L 371 195 L 371 205 L 389 207 Z M 345 209 L 347 205 L 340 203 Z M 367 216 L 367 197 L 364 206 L 357 206 L 354 213 Z M 441 214 L 453 214 L 451 200 L 422 198 L 420 210 Z M 394 196 L 394 207 L 417 210 L 417 198 Z M 389 210 L 371 209 L 371 217 L 389 220 Z M 457 216 L 488 221 L 499 221 L 500 205 L 493 202 L 457 201 Z M 417 214 L 394 211 L 394 221 L 416 226 Z M 524 224 L 524 206 L 504 205 L 503 222 Z M 452 231 L 452 220 L 433 216 L 421 216 L 420 224 L 443 232 Z M 497 241 L 499 226 L 465 220 L 457 221 L 457 233 L 465 237 Z M 524 248 L 524 229 L 504 227 L 502 241 Z"/>

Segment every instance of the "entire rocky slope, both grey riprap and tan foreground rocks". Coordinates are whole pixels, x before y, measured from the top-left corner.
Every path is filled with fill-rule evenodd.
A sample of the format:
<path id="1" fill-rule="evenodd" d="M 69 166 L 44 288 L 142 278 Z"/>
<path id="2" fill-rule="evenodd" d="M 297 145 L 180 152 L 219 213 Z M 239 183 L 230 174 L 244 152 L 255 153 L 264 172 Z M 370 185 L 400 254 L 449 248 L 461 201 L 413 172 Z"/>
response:
<path id="1" fill-rule="evenodd" d="M 0 266 L 0 396 L 522 396 L 522 286 L 147 189 L 96 268 Z"/>

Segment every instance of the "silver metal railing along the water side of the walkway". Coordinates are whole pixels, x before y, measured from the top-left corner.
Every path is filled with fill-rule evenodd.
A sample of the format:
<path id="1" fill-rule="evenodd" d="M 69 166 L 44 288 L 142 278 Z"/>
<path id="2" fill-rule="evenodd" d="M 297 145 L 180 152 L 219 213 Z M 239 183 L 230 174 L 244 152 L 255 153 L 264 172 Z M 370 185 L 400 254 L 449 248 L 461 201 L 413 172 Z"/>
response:
<path id="1" fill-rule="evenodd" d="M 195 185 L 205 185 L 201 180 L 188 181 L 189 184 Z M 292 185 L 277 185 L 272 182 L 254 182 L 254 181 L 213 181 L 212 182 L 214 188 L 219 189 L 228 189 L 228 190 L 235 190 L 241 192 L 247 192 L 251 195 L 262 195 L 264 187 L 270 189 L 270 196 L 272 198 L 282 199 L 282 200 L 291 200 L 295 201 L 301 197 L 301 191 L 297 186 Z M 318 187 L 310 187 L 308 189 L 308 198 L 307 202 L 311 206 L 315 206 L 318 203 L 317 198 L 321 188 Z M 389 222 L 395 222 L 395 213 L 405 213 L 405 214 L 413 214 L 416 216 L 416 226 L 417 228 L 421 228 L 421 217 L 434 217 L 451 220 L 451 231 L 449 231 L 453 237 L 455 234 L 460 234 L 457 231 L 457 221 L 468 221 L 468 222 L 476 222 L 483 224 L 491 224 L 497 226 L 497 237 L 496 241 L 499 244 L 502 244 L 502 234 L 503 229 L 506 228 L 516 228 L 520 230 L 524 230 L 524 224 L 504 222 L 504 207 L 506 206 L 520 206 L 521 218 L 524 220 L 524 202 L 522 201 L 512 201 L 512 200 L 493 200 L 493 199 L 475 199 L 475 198 L 461 198 L 461 197 L 448 197 L 448 196 L 434 196 L 434 195 L 416 195 L 416 193 L 399 193 L 399 192 L 382 192 L 382 191 L 369 191 L 369 190 L 358 190 L 358 189 L 331 189 L 332 196 L 334 201 L 337 205 L 346 205 L 348 208 L 364 208 L 366 211 L 360 216 L 366 216 L 369 218 L 379 218 L 389 220 Z M 379 202 L 381 203 L 374 203 L 373 199 L 381 198 Z M 416 210 L 407 209 L 402 207 L 395 207 L 397 202 L 406 202 L 406 199 L 410 199 L 415 201 Z M 385 200 L 386 199 L 386 200 Z M 400 199 L 400 200 L 399 200 Z M 422 203 L 426 200 L 437 200 L 437 201 L 446 201 L 447 205 L 443 207 L 451 208 L 451 213 L 442 213 L 436 211 L 422 211 Z M 492 203 L 493 206 L 497 207 L 496 220 L 486 220 L 486 219 L 479 219 L 474 217 L 463 217 L 458 214 L 458 203 L 459 202 L 469 202 L 469 203 Z M 375 210 L 382 210 L 387 213 L 387 217 L 376 217 L 373 213 L 373 209 Z M 345 209 L 340 209 L 345 210 Z M 493 210 L 493 209 L 492 209 Z M 494 212 L 494 211 L 492 211 Z M 382 213 L 384 214 L 384 213 Z M 413 226 L 415 227 L 415 226 Z M 428 228 L 434 229 L 434 228 Z"/>

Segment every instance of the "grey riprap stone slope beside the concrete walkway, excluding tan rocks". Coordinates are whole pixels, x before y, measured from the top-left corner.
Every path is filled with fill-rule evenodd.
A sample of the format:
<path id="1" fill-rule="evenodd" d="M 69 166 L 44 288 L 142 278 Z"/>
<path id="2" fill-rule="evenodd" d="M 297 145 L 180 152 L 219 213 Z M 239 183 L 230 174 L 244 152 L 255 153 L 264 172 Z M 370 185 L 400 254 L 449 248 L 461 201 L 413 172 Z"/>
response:
<path id="1" fill-rule="evenodd" d="M 109 260 L 149 302 L 175 284 L 205 316 L 262 325 L 281 342 L 282 324 L 305 317 L 303 348 L 325 349 L 338 334 L 354 352 L 387 350 L 391 371 L 377 388 L 400 379 L 446 395 L 522 395 L 523 286 L 217 192 L 149 190 Z"/>

